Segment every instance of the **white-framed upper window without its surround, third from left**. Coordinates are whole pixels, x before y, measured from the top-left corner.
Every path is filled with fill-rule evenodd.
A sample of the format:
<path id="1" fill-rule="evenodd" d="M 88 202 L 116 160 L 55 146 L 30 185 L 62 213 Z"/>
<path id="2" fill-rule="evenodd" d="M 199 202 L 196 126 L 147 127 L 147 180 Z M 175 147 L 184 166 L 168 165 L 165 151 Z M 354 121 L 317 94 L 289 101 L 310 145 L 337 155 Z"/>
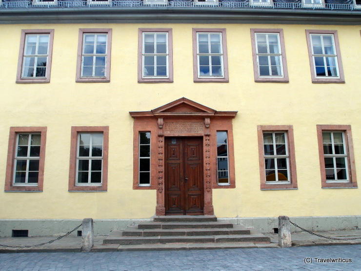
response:
<path id="1" fill-rule="evenodd" d="M 168 78 L 168 33 L 143 32 L 142 77 Z"/>

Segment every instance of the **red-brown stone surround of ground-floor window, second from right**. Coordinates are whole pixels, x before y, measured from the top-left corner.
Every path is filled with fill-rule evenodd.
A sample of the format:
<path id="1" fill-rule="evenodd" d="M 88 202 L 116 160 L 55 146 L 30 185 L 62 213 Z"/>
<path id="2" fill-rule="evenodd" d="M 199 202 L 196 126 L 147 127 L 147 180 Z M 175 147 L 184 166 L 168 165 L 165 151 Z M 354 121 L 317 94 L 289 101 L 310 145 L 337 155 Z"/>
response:
<path id="1" fill-rule="evenodd" d="M 289 156 L 289 179 L 288 184 L 275 184 L 266 183 L 266 174 L 264 168 L 264 150 L 263 150 L 263 133 L 264 132 L 286 132 L 287 135 L 287 147 Z M 292 125 L 258 125 L 258 151 L 260 161 L 260 175 L 261 175 L 261 190 L 276 190 L 276 189 L 297 189 L 297 173 L 296 173 L 296 157 L 295 157 L 295 142 L 293 137 Z"/>

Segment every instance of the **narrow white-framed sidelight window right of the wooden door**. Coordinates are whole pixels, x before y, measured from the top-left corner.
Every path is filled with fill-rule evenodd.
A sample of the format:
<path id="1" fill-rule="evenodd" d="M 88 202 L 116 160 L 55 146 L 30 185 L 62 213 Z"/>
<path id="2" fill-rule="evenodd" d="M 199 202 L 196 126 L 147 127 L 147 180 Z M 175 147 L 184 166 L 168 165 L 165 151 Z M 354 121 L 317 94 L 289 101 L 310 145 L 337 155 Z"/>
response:
<path id="1" fill-rule="evenodd" d="M 218 185 L 229 185 L 228 140 L 226 131 L 217 131 Z"/>

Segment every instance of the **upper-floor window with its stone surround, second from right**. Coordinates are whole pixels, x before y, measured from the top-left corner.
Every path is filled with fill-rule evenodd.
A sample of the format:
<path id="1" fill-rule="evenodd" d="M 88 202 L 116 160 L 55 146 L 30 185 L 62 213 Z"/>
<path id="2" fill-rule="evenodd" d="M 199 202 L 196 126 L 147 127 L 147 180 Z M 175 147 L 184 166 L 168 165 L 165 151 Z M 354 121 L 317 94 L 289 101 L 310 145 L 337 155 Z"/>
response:
<path id="1" fill-rule="evenodd" d="M 282 29 L 251 29 L 256 82 L 288 82 Z"/>

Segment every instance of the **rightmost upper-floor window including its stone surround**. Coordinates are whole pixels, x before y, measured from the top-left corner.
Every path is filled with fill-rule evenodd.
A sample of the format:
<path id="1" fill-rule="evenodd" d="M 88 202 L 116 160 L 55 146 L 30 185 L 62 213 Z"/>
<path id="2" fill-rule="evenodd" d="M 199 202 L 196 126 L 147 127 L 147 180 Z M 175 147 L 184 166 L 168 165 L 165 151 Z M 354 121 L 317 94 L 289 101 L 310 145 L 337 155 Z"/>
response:
<path id="1" fill-rule="evenodd" d="M 306 30 L 314 83 L 344 83 L 337 31 Z"/>

